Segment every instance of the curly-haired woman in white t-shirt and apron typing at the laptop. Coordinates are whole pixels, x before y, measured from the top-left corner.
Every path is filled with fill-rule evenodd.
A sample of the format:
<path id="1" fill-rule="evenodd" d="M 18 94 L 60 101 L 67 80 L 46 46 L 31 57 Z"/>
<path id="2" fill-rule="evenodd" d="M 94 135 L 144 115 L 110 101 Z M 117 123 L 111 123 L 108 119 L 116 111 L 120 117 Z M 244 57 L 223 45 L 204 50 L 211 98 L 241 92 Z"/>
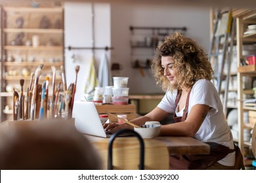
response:
<path id="1" fill-rule="evenodd" d="M 166 37 L 156 53 L 152 71 L 157 83 L 166 92 L 165 96 L 151 112 L 131 122 L 142 125 L 174 114 L 175 123 L 161 125 L 160 135 L 188 136 L 209 142 L 211 154 L 206 158 L 215 159 L 202 160 L 198 165 L 189 165 L 188 169 L 234 169 L 236 153 L 232 133 L 225 122 L 219 93 L 211 82 L 213 69 L 207 54 L 197 42 L 178 32 Z M 133 128 L 128 124 L 108 124 L 104 127 L 111 133 L 121 128 Z M 179 167 L 181 159 L 192 159 L 188 156 L 170 158 L 170 165 L 176 163 L 170 169 L 184 169 Z"/>

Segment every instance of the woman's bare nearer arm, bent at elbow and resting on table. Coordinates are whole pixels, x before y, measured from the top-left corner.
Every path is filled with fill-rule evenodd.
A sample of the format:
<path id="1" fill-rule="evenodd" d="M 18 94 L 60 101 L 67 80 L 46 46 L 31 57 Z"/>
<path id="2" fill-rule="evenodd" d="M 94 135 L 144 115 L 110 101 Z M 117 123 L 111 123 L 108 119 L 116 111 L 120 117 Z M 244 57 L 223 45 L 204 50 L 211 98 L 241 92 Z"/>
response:
<path id="1" fill-rule="evenodd" d="M 194 137 L 209 110 L 207 105 L 194 105 L 184 122 L 161 125 L 160 135 Z"/>

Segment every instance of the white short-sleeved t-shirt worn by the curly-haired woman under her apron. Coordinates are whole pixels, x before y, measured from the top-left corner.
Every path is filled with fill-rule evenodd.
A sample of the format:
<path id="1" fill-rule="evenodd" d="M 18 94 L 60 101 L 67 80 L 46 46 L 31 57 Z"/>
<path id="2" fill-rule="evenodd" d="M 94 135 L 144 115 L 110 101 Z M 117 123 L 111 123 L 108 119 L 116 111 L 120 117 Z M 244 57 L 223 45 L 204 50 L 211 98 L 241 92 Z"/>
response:
<path id="1" fill-rule="evenodd" d="M 176 97 L 177 90 L 174 92 L 166 92 L 165 96 L 158 104 L 158 107 L 171 114 L 176 112 L 177 116 L 182 116 L 184 108 L 179 112 L 175 110 Z M 207 113 L 205 120 L 203 121 L 200 129 L 198 129 L 194 138 L 202 142 L 217 142 L 230 149 L 234 149 L 232 133 L 228 124 L 225 122 L 223 105 L 219 98 L 219 93 L 211 81 L 202 79 L 198 80 L 194 84 L 190 92 L 188 115 L 191 108 L 198 104 L 208 105 L 211 109 Z M 218 161 L 218 163 L 226 166 L 234 166 L 235 156 L 236 153 L 232 152 L 225 158 Z"/>

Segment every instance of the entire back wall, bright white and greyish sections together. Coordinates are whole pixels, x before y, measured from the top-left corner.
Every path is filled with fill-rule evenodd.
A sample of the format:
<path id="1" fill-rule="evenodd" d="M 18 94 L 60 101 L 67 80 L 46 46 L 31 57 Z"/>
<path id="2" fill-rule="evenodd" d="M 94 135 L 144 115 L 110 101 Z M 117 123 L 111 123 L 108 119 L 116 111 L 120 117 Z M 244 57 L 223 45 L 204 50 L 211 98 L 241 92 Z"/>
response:
<path id="1" fill-rule="evenodd" d="M 129 76 L 129 93 L 161 93 L 150 69 L 142 77 L 131 67 L 131 33 L 129 26 L 183 27 L 186 35 L 198 41 L 205 51 L 209 47 L 209 7 L 177 7 L 150 3 L 95 3 L 95 46 L 113 46 L 109 61 L 122 65 L 120 76 Z M 65 3 L 65 46 L 91 46 L 91 3 Z M 72 52 L 66 50 L 68 84 L 75 80 L 75 65 L 80 71 L 75 99 L 83 99 L 91 50 L 75 50 L 77 61 L 72 63 Z M 95 52 L 96 67 L 104 51 Z"/>

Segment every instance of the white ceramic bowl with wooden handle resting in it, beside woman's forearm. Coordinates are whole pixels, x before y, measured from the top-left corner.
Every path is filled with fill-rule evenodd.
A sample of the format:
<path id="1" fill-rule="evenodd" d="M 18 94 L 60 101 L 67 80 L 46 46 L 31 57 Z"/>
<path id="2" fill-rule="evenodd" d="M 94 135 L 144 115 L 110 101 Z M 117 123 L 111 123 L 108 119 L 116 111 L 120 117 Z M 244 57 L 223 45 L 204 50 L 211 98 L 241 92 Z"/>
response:
<path id="1" fill-rule="evenodd" d="M 158 122 L 159 123 L 159 122 Z M 144 139 L 152 139 L 157 137 L 160 133 L 160 124 L 145 124 L 141 127 L 134 127 L 134 131 L 139 133 L 139 135 Z"/>

